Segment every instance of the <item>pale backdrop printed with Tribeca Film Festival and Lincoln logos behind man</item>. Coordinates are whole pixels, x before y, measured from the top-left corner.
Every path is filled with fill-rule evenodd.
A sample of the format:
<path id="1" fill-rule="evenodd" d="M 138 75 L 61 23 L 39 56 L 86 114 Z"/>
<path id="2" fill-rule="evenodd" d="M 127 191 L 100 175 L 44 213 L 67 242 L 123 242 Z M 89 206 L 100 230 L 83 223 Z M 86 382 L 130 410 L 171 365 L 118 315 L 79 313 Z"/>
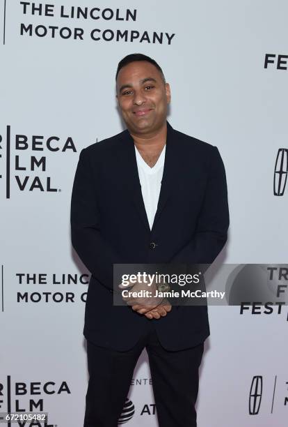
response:
<path id="1" fill-rule="evenodd" d="M 0 412 L 48 412 L 6 425 L 83 425 L 89 272 L 70 197 L 81 149 L 123 129 L 126 54 L 159 62 L 171 125 L 221 152 L 231 226 L 216 264 L 269 264 L 286 290 L 287 15 L 284 0 L 1 0 Z M 200 427 L 287 426 L 287 306 L 263 304 L 209 307 Z M 145 352 L 125 410 L 120 424 L 157 426 Z"/>

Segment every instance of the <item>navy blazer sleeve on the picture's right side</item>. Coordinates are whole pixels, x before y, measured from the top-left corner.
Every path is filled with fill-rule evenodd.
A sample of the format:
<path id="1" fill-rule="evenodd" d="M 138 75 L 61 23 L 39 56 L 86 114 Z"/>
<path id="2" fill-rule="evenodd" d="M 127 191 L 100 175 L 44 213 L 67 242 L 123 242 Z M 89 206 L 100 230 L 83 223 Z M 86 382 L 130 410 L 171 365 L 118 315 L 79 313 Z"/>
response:
<path id="1" fill-rule="evenodd" d="M 212 147 L 209 178 L 195 234 L 170 262 L 211 264 L 225 245 L 229 227 L 225 168 L 217 147 Z"/>

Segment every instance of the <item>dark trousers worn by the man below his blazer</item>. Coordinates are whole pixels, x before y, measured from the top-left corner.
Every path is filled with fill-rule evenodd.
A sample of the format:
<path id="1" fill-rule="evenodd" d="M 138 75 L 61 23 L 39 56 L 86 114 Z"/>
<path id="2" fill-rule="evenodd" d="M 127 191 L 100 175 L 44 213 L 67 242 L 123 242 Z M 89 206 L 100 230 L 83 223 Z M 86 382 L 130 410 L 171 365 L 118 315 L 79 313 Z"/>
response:
<path id="1" fill-rule="evenodd" d="M 84 427 L 118 426 L 144 347 L 149 357 L 159 427 L 197 426 L 195 403 L 204 344 L 176 352 L 165 350 L 150 322 L 147 333 L 127 352 L 97 347 L 87 341 L 90 377 Z"/>

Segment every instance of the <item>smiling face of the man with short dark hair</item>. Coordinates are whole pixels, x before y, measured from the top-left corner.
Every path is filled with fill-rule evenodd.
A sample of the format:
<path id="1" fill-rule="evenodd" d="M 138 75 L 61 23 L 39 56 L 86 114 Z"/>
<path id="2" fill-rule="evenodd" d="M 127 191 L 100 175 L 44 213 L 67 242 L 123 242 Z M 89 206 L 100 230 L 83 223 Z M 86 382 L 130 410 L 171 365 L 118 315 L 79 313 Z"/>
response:
<path id="1" fill-rule="evenodd" d="M 134 135 L 157 133 L 166 122 L 170 87 L 150 62 L 131 62 L 119 71 L 117 98 L 123 120 Z"/>

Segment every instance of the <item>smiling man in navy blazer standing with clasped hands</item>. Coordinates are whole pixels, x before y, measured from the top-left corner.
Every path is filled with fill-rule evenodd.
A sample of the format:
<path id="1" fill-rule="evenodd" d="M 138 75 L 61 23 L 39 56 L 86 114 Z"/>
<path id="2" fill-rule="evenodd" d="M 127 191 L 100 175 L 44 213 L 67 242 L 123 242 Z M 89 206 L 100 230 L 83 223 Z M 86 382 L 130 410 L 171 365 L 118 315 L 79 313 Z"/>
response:
<path id="1" fill-rule="evenodd" d="M 127 130 L 81 151 L 72 190 L 72 244 L 91 272 L 84 426 L 117 426 L 146 347 L 159 426 L 194 427 L 207 307 L 113 306 L 113 264 L 213 262 L 227 239 L 225 170 L 216 147 L 166 121 L 170 87 L 153 59 L 122 59 L 116 90 Z"/>

